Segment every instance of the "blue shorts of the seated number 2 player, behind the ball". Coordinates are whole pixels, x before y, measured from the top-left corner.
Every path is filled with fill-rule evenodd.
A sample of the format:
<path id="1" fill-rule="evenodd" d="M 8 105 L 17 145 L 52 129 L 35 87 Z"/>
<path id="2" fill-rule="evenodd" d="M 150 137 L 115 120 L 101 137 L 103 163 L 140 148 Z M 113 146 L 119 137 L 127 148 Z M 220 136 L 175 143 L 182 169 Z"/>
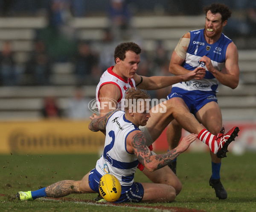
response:
<path id="1" fill-rule="evenodd" d="M 89 174 L 89 186 L 93 191 L 99 193 L 99 180 L 102 175 L 93 169 Z M 131 186 L 121 186 L 122 192 L 120 198 L 116 201 L 119 202 L 140 202 L 144 195 L 144 188 L 142 184 L 134 182 Z"/>

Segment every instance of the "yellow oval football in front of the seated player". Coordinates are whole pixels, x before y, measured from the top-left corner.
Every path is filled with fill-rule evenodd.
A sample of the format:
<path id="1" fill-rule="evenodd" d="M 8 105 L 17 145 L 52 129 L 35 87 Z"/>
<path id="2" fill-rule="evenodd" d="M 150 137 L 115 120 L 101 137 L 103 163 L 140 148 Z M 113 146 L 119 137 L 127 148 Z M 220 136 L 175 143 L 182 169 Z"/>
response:
<path id="1" fill-rule="evenodd" d="M 103 175 L 99 181 L 99 194 L 108 202 L 115 202 L 121 195 L 121 185 L 111 174 Z"/>

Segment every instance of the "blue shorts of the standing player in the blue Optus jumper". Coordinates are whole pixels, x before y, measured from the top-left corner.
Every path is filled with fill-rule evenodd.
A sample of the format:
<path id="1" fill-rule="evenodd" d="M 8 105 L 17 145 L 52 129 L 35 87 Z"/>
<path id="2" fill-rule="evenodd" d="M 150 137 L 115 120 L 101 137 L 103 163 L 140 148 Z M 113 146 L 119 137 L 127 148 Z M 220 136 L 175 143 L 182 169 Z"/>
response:
<path id="1" fill-rule="evenodd" d="M 167 96 L 167 100 L 174 97 L 183 99 L 183 101 L 189 107 L 190 113 L 194 114 L 194 116 L 195 113 L 197 113 L 198 110 L 200 110 L 207 103 L 218 103 L 215 91 L 184 90 L 173 87 L 172 92 Z"/>

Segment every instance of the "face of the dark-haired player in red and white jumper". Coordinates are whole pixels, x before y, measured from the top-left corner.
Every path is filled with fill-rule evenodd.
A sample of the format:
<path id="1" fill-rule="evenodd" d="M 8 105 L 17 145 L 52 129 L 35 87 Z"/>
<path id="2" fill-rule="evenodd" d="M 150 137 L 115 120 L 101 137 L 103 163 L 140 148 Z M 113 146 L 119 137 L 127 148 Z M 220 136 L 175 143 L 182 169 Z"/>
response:
<path id="1" fill-rule="evenodd" d="M 136 54 L 134 51 L 127 51 L 125 53 L 125 59 L 119 60 L 120 70 L 122 72 L 122 77 L 134 78 L 135 73 L 139 67 L 140 55 Z"/>

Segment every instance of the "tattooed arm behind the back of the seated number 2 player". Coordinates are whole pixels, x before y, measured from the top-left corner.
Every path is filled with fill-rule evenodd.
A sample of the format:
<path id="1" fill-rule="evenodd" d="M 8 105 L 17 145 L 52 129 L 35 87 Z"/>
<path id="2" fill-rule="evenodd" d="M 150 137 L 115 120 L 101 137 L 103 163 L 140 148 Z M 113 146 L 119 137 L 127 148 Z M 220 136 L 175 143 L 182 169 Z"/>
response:
<path id="1" fill-rule="evenodd" d="M 89 130 L 93 132 L 98 132 L 99 130 L 106 130 L 106 124 L 108 122 L 108 118 L 113 114 L 114 112 L 111 111 L 107 113 L 105 116 L 99 117 L 99 116 L 90 116 L 90 119 L 92 121 L 90 122 L 88 128 Z"/>

